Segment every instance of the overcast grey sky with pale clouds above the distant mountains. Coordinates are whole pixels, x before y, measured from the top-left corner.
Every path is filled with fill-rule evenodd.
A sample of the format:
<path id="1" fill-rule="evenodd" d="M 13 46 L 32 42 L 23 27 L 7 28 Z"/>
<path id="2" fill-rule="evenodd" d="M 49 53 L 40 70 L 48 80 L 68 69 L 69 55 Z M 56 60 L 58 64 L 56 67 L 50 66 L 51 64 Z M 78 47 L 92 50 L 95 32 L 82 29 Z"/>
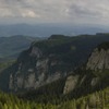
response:
<path id="1" fill-rule="evenodd" d="M 0 23 L 109 25 L 109 0 L 0 0 Z"/>

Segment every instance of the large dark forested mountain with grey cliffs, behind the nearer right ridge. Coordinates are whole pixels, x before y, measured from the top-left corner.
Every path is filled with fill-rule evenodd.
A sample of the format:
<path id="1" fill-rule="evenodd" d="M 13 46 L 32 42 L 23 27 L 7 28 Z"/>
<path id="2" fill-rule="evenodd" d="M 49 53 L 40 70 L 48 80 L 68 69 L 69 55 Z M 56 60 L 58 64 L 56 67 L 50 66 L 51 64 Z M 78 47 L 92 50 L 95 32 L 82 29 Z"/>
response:
<path id="1" fill-rule="evenodd" d="M 1 72 L 0 87 L 11 92 L 35 89 L 69 74 L 74 74 L 78 66 L 86 64 L 93 49 L 107 40 L 109 40 L 108 34 L 97 34 L 76 37 L 52 35 L 48 39 L 34 41 L 29 49 L 19 56 L 16 62 Z M 82 76 L 76 74 L 68 80 L 75 78 L 75 84 L 78 83 L 77 80 L 84 80 L 84 72 Z M 95 74 L 89 74 L 85 80 L 90 83 Z M 4 80 L 5 83 L 3 83 Z M 69 89 L 64 90 L 66 92 Z"/>

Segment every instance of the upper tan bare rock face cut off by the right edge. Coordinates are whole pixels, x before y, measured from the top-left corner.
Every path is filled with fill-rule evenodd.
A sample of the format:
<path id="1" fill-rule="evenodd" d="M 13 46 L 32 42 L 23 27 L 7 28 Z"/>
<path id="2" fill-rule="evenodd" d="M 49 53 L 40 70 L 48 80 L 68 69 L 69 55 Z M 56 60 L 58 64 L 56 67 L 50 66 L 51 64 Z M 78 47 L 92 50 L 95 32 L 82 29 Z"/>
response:
<path id="1" fill-rule="evenodd" d="M 109 69 L 109 49 L 98 50 L 98 48 L 96 48 L 88 59 L 86 69 L 95 71 Z"/>

